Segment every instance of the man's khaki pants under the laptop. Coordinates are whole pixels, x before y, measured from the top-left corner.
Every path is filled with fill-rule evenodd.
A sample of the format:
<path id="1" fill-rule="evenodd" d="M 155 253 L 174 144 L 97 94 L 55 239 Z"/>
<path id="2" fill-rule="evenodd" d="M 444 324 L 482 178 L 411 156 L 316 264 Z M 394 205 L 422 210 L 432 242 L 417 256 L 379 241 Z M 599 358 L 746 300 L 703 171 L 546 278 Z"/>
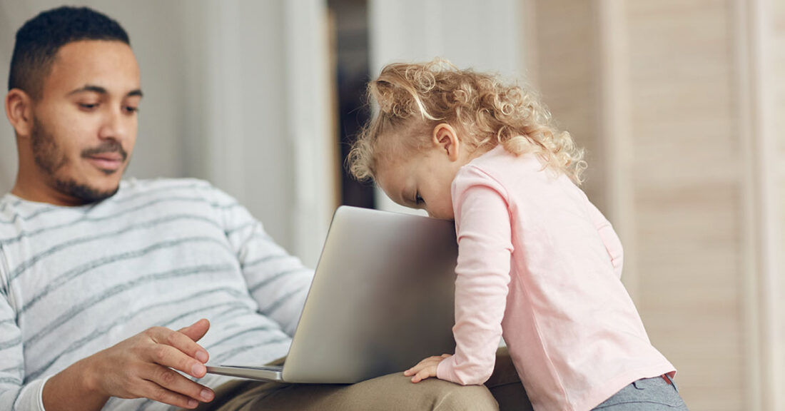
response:
<path id="1" fill-rule="evenodd" d="M 436 378 L 412 384 L 403 373 L 357 384 L 283 384 L 234 380 L 215 391 L 199 411 L 531 410 L 506 348 L 496 354 L 493 376 L 484 386 L 462 387 Z"/>

